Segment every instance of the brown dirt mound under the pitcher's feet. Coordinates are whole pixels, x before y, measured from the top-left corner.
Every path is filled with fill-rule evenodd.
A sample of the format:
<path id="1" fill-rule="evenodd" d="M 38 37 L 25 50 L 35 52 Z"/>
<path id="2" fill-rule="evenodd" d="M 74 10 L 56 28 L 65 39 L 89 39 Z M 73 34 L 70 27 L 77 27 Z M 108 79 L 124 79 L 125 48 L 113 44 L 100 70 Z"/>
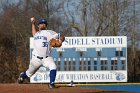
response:
<path id="1" fill-rule="evenodd" d="M 0 84 L 0 93 L 130 93 L 95 88 L 61 87 L 49 89 L 47 84 Z"/>

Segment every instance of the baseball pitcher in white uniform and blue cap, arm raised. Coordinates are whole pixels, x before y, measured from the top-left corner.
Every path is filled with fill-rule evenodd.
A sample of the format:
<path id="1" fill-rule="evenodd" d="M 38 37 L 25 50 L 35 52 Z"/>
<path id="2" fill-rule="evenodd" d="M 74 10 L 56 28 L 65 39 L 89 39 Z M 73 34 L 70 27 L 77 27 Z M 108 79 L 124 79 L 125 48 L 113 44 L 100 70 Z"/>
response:
<path id="1" fill-rule="evenodd" d="M 56 33 L 52 30 L 47 30 L 47 21 L 40 19 L 37 21 L 39 30 L 35 28 L 36 20 L 31 18 L 32 35 L 34 37 L 34 50 L 32 52 L 32 59 L 29 64 L 29 68 L 22 72 L 18 78 L 18 83 L 23 83 L 28 77 L 31 77 L 41 66 L 47 67 L 50 70 L 50 83 L 49 88 L 55 88 L 56 78 L 56 64 L 53 58 L 50 56 L 51 49 L 53 47 L 61 47 L 62 42 L 65 40 L 64 36 Z"/>

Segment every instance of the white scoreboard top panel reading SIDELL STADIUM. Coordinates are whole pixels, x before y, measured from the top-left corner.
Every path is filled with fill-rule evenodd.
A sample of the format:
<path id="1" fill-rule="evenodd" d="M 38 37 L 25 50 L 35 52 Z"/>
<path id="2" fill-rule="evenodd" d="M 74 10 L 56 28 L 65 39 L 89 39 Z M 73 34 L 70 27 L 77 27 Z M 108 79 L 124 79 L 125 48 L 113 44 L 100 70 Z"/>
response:
<path id="1" fill-rule="evenodd" d="M 33 48 L 33 38 L 30 38 L 30 48 Z M 65 37 L 61 48 L 98 48 L 127 47 L 126 36 L 102 37 Z"/>

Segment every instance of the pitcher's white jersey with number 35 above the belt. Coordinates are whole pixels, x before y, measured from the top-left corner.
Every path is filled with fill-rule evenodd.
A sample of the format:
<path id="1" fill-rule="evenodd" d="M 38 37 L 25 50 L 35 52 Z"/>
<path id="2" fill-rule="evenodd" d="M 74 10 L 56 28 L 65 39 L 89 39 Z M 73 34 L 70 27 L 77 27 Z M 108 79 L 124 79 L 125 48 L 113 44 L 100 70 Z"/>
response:
<path id="1" fill-rule="evenodd" d="M 40 57 L 49 56 L 51 47 L 49 41 L 58 38 L 58 34 L 52 30 L 41 30 L 34 35 L 34 50 L 32 54 Z"/>

